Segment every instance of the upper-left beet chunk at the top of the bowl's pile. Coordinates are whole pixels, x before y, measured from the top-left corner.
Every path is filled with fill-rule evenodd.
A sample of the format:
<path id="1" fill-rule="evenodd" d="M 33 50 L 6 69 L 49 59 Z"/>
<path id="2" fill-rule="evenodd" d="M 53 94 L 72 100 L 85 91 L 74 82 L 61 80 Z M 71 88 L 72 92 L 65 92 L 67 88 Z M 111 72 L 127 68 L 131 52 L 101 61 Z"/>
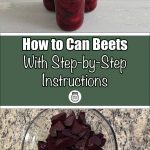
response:
<path id="1" fill-rule="evenodd" d="M 52 117 L 52 124 L 57 123 L 58 121 L 64 122 L 66 120 L 66 113 L 60 113 Z"/>

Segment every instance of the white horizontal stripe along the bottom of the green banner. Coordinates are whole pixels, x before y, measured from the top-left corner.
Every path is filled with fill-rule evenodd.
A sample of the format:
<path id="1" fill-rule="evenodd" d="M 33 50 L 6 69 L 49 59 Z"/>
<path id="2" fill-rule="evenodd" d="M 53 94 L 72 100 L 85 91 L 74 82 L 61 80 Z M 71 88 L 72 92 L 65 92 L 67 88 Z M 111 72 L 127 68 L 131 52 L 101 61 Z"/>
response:
<path id="1" fill-rule="evenodd" d="M 1 109 L 146 109 L 150 106 L 1 106 Z"/>

